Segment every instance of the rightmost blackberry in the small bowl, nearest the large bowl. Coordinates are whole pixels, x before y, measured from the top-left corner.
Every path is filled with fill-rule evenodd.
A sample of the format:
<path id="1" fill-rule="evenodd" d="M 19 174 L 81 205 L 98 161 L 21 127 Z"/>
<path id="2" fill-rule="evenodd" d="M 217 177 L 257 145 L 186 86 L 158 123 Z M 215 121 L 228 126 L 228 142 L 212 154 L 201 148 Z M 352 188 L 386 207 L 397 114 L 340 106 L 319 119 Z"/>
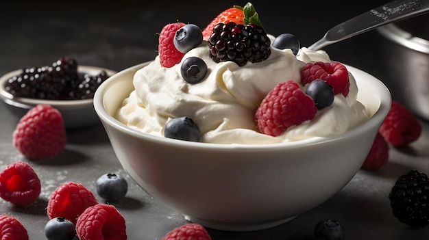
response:
<path id="1" fill-rule="evenodd" d="M 106 71 L 102 70 L 98 75 L 89 75 L 84 74 L 83 80 L 77 85 L 75 90 L 71 90 L 69 92 L 69 96 L 73 99 L 87 99 L 93 98 L 95 94 L 95 90 L 108 79 L 108 75 Z"/>

